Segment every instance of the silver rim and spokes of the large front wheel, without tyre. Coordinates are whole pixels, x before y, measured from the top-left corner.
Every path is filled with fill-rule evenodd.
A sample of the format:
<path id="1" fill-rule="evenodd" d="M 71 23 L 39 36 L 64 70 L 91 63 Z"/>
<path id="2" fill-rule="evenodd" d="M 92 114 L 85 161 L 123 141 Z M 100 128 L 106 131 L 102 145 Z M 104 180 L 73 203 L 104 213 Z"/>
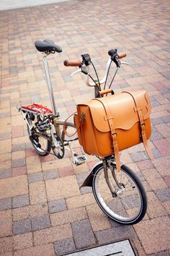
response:
<path id="1" fill-rule="evenodd" d="M 122 183 L 122 189 L 118 189 L 115 180 L 112 178 L 112 171 L 108 169 L 109 181 L 117 193 L 117 197 L 112 197 L 104 179 L 102 167 L 95 175 L 94 195 L 104 213 L 122 223 L 135 221 L 140 216 L 143 204 L 140 190 L 130 175 L 123 170 L 117 172 L 117 180 Z"/>

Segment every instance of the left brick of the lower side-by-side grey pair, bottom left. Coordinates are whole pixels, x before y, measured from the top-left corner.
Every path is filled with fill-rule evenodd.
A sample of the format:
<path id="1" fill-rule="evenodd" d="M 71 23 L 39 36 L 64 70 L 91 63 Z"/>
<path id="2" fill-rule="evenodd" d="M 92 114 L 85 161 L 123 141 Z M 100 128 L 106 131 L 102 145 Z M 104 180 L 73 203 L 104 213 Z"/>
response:
<path id="1" fill-rule="evenodd" d="M 13 227 L 13 234 L 24 234 L 27 232 L 32 231 L 32 226 L 31 226 L 31 220 L 30 218 L 27 218 L 22 221 L 16 221 L 12 225 Z"/>

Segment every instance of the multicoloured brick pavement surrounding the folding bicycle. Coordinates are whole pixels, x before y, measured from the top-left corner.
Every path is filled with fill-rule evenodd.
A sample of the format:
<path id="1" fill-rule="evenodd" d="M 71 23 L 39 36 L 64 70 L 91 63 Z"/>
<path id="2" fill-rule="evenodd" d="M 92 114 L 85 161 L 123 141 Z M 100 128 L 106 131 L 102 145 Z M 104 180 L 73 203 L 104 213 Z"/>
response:
<path id="1" fill-rule="evenodd" d="M 63 255 L 77 249 L 130 239 L 138 255 L 169 255 L 169 1 L 79 1 L 0 12 L 0 255 Z M 68 12 L 69 10 L 69 12 Z M 115 91 L 148 90 L 153 161 L 143 146 L 122 152 L 122 161 L 143 180 L 148 194 L 146 217 L 121 226 L 99 210 L 89 189 L 79 189 L 95 158 L 84 166 L 59 161 L 32 149 L 17 103 L 49 106 L 41 54 L 34 41 L 50 38 L 63 47 L 50 56 L 55 101 L 65 118 L 76 103 L 92 97 L 81 75 L 64 59 L 88 52 L 99 70 L 109 48 L 128 53 Z M 76 145 L 79 149 L 79 145 Z"/>

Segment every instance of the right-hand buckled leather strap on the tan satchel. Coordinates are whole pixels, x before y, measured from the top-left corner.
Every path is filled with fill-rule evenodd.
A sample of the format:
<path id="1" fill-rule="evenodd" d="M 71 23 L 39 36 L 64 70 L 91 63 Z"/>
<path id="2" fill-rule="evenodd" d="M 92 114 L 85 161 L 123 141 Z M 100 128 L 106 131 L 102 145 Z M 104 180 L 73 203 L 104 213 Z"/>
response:
<path id="1" fill-rule="evenodd" d="M 142 108 L 140 107 L 140 103 L 138 101 L 138 98 L 135 98 L 133 96 L 133 93 L 130 92 L 122 92 L 122 93 L 129 93 L 132 97 L 133 97 L 133 101 L 135 102 L 135 111 L 138 112 L 138 117 L 139 117 L 139 121 L 140 121 L 140 128 L 141 128 L 141 135 L 142 135 L 142 139 L 143 139 L 143 145 L 146 149 L 146 152 L 148 153 L 148 156 L 153 159 L 153 155 L 151 153 L 150 148 L 148 147 L 148 141 L 147 141 L 147 137 L 146 137 L 146 129 L 145 129 L 145 123 L 143 120 L 143 114 L 142 114 Z"/>

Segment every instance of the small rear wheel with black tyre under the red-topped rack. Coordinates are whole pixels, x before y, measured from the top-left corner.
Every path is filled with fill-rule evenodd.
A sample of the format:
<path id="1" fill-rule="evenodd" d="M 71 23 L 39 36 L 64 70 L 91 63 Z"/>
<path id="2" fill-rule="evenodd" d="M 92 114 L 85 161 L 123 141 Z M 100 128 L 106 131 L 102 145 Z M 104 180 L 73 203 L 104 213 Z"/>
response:
<path id="1" fill-rule="evenodd" d="M 36 119 L 36 115 L 34 116 L 34 118 Z M 48 155 L 51 150 L 51 142 L 45 137 L 48 137 L 50 135 L 50 130 L 47 130 L 43 133 L 38 132 L 35 128 L 36 120 L 31 120 L 29 114 L 27 114 L 26 119 L 28 122 L 27 132 L 30 141 L 32 142 L 32 146 L 35 148 L 35 151 L 42 156 Z M 44 135 L 44 137 L 42 137 L 42 135 Z"/>

